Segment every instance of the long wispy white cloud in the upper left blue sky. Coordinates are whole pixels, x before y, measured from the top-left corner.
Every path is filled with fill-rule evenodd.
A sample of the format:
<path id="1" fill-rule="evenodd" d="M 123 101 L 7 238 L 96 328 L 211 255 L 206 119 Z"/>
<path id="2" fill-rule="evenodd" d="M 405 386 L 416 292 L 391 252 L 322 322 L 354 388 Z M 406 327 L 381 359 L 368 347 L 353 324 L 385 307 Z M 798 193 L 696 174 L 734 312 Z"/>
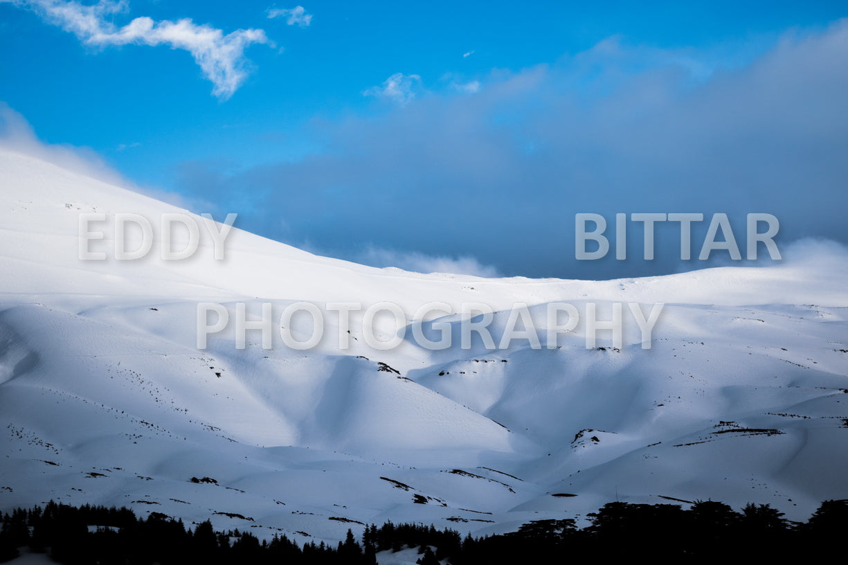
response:
<path id="1" fill-rule="evenodd" d="M 224 35 L 209 25 L 197 25 L 190 19 L 153 21 L 148 17 L 132 20 L 123 27 L 107 16 L 125 13 L 126 0 L 99 0 L 92 5 L 62 0 L 0 0 L 29 9 L 50 24 L 70 31 L 81 42 L 94 47 L 140 44 L 167 45 L 192 53 L 204 75 L 215 87 L 212 93 L 227 99 L 236 92 L 247 76 L 244 49 L 253 43 L 272 45 L 262 30 L 237 30 Z"/>

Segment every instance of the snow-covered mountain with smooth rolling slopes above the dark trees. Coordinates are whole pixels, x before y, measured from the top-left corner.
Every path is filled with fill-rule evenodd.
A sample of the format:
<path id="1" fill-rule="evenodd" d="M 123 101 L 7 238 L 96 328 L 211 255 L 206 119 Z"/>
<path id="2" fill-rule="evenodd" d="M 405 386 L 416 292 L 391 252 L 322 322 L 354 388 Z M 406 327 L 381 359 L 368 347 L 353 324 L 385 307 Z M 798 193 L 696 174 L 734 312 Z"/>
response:
<path id="1" fill-rule="evenodd" d="M 215 260 L 194 216 L 191 259 L 80 260 L 82 213 L 173 212 L 184 210 L 0 151 L 0 511 L 92 502 L 335 541 L 389 519 L 509 531 L 616 496 L 754 501 L 795 519 L 848 498 L 840 250 L 644 279 L 483 279 L 355 265 L 237 227 Z M 313 349 L 276 328 L 271 349 L 255 330 L 237 349 L 232 325 L 198 349 L 198 302 L 254 317 L 271 303 L 277 319 L 298 301 L 324 314 Z M 488 305 L 496 342 L 516 303 L 534 322 L 550 303 L 583 315 L 594 302 L 599 317 L 614 303 L 665 307 L 650 350 L 627 304 L 620 348 L 601 332 L 588 349 L 582 321 L 556 349 L 543 336 L 543 349 L 456 338 L 427 350 L 407 332 L 376 350 L 354 316 L 339 349 L 327 304 L 382 301 L 410 319 L 427 302 Z M 460 317 L 440 322 L 458 335 Z M 395 331 L 375 326 L 383 341 Z"/>

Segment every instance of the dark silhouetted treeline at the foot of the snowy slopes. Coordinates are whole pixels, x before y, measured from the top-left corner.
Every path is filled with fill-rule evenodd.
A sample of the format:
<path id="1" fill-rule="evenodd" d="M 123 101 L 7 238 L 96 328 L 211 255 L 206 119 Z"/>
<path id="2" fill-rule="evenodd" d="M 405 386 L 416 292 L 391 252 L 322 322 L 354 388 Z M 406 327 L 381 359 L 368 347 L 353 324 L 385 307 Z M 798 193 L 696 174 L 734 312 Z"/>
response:
<path id="1" fill-rule="evenodd" d="M 591 525 L 577 529 L 572 518 L 536 520 L 510 534 L 463 540 L 452 529 L 422 524 L 366 526 L 357 540 L 348 530 L 336 546 L 300 546 L 285 535 L 259 541 L 254 534 L 216 532 L 209 521 L 187 528 L 159 512 L 147 519 L 127 508 L 65 506 L 16 509 L 2 516 L 0 562 L 18 548 L 49 552 L 69 564 L 101 563 L 318 563 L 375 565 L 378 551 L 417 547 L 418 562 L 434 565 L 513 564 L 561 559 L 650 557 L 653 561 L 717 562 L 718 559 L 774 560 L 824 558 L 840 552 L 848 527 L 848 501 L 824 501 L 806 523 L 789 522 L 768 505 L 741 512 L 717 501 L 696 501 L 688 510 L 672 504 L 610 502 L 589 514 Z"/>

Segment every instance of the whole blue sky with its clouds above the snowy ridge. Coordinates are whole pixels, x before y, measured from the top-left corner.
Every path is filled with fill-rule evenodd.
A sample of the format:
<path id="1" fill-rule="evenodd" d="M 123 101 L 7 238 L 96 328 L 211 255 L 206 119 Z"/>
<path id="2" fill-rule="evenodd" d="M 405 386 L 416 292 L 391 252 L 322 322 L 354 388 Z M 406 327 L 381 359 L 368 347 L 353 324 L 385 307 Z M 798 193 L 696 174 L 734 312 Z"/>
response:
<path id="1" fill-rule="evenodd" d="M 745 214 L 767 212 L 778 245 L 848 243 L 846 12 L 0 0 L 0 101 L 8 139 L 25 120 L 145 190 L 324 255 L 635 277 L 726 255 L 681 261 L 663 225 L 645 261 L 633 224 L 628 260 L 577 261 L 577 212 L 725 212 L 740 242 Z"/>

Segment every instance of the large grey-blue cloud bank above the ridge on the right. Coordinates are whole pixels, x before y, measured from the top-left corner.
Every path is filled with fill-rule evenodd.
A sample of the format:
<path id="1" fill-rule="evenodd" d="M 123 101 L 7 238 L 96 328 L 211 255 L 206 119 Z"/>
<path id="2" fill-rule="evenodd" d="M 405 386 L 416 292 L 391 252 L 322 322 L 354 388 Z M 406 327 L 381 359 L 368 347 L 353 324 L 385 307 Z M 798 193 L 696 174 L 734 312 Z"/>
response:
<path id="1" fill-rule="evenodd" d="M 321 149 L 304 159 L 199 167 L 181 189 L 222 207 L 248 199 L 250 229 L 331 255 L 469 256 L 507 276 L 636 277 L 715 262 L 695 253 L 681 264 L 676 225 L 658 225 L 656 259 L 643 260 L 633 223 L 628 260 L 578 261 L 578 212 L 611 227 L 616 213 L 700 212 L 695 249 L 717 212 L 743 242 L 750 212 L 778 217 L 778 246 L 848 242 L 848 20 L 789 32 L 745 65 L 714 59 L 611 38 L 473 77 L 476 92 L 436 84 L 418 98 L 420 79 L 399 73 L 368 93 L 402 105 L 314 120 L 303 135 Z"/>

